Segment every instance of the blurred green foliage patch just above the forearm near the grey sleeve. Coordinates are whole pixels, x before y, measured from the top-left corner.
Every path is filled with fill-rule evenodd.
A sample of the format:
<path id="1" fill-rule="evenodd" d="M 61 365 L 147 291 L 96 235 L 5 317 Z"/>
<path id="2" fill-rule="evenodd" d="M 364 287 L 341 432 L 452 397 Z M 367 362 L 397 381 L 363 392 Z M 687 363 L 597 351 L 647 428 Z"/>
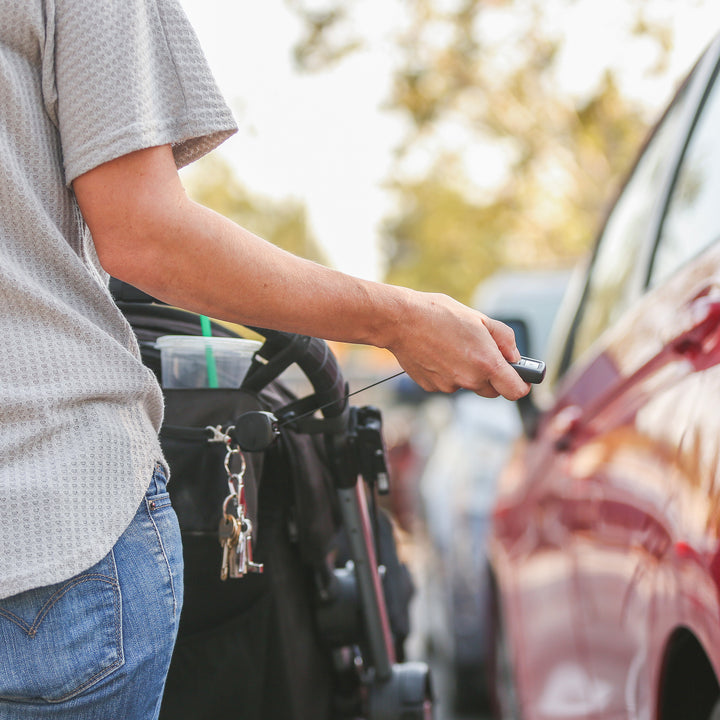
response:
<path id="1" fill-rule="evenodd" d="M 269 242 L 315 262 L 327 262 L 312 236 L 305 207 L 251 195 L 217 153 L 183 173 L 188 195 Z"/>

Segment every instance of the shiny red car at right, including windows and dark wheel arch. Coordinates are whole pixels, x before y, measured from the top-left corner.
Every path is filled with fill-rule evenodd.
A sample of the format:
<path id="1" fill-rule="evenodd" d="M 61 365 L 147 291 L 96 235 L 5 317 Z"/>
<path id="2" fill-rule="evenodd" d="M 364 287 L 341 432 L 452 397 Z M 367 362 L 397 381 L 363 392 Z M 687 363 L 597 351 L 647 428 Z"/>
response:
<path id="1" fill-rule="evenodd" d="M 504 720 L 720 718 L 719 63 L 720 37 L 521 404 L 490 538 Z"/>

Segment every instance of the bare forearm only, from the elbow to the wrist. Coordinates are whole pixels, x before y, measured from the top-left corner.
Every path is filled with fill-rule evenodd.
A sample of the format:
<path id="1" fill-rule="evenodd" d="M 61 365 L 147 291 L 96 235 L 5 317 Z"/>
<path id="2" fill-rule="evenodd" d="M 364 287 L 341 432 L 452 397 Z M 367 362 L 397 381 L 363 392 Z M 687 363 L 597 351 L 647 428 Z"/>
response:
<path id="1" fill-rule="evenodd" d="M 135 244 L 131 260 L 122 239 L 113 242 L 106 269 L 213 318 L 385 346 L 412 305 L 413 293 L 404 288 L 291 255 L 188 199 L 148 224 L 152 238 Z"/>

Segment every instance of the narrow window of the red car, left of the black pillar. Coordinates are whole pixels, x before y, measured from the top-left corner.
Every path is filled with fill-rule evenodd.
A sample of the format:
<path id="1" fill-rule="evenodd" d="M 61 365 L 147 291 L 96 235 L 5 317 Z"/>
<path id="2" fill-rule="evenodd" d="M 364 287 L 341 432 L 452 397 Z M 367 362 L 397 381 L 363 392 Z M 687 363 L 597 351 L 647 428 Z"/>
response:
<path id="1" fill-rule="evenodd" d="M 685 88 L 656 128 L 605 223 L 569 348 L 571 361 L 582 355 L 633 300 L 631 281 L 677 143 Z"/>

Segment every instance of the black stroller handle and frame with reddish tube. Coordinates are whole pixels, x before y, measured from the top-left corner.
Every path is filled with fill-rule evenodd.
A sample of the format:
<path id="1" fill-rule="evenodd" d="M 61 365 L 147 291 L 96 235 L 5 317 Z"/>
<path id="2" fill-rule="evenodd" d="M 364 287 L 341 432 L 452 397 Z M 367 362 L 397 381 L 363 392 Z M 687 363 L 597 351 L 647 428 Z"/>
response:
<path id="1" fill-rule="evenodd" d="M 310 380 L 315 394 L 291 403 L 277 413 L 250 412 L 238 419 L 231 433 L 243 450 L 265 449 L 281 427 L 323 433 L 334 463 L 336 489 L 347 535 L 352 572 L 333 569 L 320 578 L 320 626 L 335 644 L 356 642 L 365 646 L 362 685 L 366 692 L 368 720 L 410 720 L 432 717 L 430 672 L 424 663 L 395 662 L 395 650 L 382 580 L 375 552 L 375 533 L 367 490 L 387 492 L 388 468 L 382 437 L 380 411 L 373 407 L 350 407 L 348 391 L 337 361 L 327 344 L 317 338 L 259 330 L 266 344 L 258 351 L 243 383 L 253 387 L 257 377 L 282 372 L 295 362 Z M 270 346 L 268 347 L 268 342 Z M 284 347 L 279 352 L 275 346 Z M 265 348 L 273 353 L 264 356 Z M 256 374 L 257 373 L 257 374 Z M 310 407 L 310 410 L 306 410 Z M 324 419 L 308 418 L 315 408 Z M 299 415 L 299 417 L 298 417 Z M 358 638 L 354 618 L 359 606 L 364 642 Z M 356 662 L 357 664 L 357 662 Z"/>

